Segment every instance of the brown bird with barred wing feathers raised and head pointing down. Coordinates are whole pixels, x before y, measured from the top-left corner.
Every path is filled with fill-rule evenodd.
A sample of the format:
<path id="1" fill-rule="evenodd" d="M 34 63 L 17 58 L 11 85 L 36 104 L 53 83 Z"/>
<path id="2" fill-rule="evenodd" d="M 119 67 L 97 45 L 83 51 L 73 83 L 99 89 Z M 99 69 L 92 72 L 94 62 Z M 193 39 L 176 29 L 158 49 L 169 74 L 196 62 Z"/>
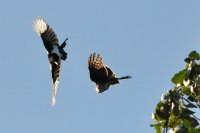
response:
<path id="1" fill-rule="evenodd" d="M 115 73 L 103 64 L 100 54 L 96 56 L 96 53 L 91 54 L 88 58 L 88 69 L 90 79 L 96 83 L 97 93 L 104 92 L 110 85 L 119 84 L 119 80 L 131 78 L 131 76 L 117 78 Z"/>

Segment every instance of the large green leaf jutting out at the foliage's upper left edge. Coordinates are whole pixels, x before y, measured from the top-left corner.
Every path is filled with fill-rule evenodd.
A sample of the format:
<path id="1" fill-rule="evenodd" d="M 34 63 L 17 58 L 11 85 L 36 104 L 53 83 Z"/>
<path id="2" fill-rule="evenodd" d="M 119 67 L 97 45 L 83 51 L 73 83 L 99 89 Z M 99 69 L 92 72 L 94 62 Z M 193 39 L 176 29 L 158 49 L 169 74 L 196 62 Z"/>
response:
<path id="1" fill-rule="evenodd" d="M 183 80 L 185 79 L 186 72 L 187 72 L 186 69 L 180 71 L 179 73 L 174 75 L 174 77 L 171 79 L 171 81 L 176 85 L 177 84 L 182 84 Z"/>

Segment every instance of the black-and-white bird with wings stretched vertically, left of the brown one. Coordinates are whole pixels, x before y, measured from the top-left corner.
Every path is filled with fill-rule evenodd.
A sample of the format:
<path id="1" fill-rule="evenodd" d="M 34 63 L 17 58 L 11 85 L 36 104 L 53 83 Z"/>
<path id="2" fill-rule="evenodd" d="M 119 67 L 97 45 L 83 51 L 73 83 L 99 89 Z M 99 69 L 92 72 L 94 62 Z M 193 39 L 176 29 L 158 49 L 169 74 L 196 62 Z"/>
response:
<path id="1" fill-rule="evenodd" d="M 47 50 L 50 70 L 53 80 L 53 92 L 51 97 L 51 105 L 56 102 L 56 94 L 58 91 L 59 75 L 61 60 L 67 59 L 67 53 L 64 51 L 66 39 L 61 45 L 58 43 L 58 38 L 52 28 L 43 19 L 37 18 L 33 23 L 34 31 L 42 38 L 44 47 Z"/>

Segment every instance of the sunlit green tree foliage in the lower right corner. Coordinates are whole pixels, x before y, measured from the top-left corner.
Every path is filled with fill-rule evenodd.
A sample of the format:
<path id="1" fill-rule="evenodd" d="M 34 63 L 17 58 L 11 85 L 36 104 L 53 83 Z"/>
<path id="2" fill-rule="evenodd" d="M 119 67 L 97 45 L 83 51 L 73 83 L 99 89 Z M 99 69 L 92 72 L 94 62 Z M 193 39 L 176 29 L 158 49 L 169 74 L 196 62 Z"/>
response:
<path id="1" fill-rule="evenodd" d="M 186 68 L 175 74 L 175 84 L 157 103 L 151 124 L 156 133 L 200 133 L 195 111 L 200 107 L 200 55 L 192 51 L 185 59 Z M 196 108 L 196 109 L 195 109 Z"/>

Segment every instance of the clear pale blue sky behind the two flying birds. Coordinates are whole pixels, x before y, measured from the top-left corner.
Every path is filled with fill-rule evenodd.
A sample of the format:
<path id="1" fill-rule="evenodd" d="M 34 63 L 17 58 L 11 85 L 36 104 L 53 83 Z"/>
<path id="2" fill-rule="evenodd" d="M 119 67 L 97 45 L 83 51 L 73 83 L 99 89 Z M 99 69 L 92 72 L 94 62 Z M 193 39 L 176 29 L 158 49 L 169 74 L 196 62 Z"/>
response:
<path id="1" fill-rule="evenodd" d="M 151 113 L 184 58 L 200 50 L 199 0 L 3 0 L 0 4 L 1 133 L 153 133 Z M 69 38 L 55 107 L 41 17 Z M 87 59 L 103 56 L 117 76 L 102 94 Z"/>

